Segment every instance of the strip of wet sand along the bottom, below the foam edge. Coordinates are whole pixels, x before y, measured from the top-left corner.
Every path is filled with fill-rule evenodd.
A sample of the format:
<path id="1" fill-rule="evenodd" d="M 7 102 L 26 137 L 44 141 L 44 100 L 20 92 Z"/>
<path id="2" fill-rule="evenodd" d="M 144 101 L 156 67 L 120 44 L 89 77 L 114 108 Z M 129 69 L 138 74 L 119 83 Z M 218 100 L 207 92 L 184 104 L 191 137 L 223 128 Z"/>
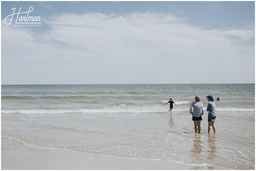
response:
<path id="1" fill-rule="evenodd" d="M 102 155 L 75 153 L 63 150 L 34 149 L 23 146 L 22 155 L 5 154 L 2 149 L 2 170 L 208 170 L 221 169 L 209 166 L 189 166 L 167 161 L 116 158 Z M 23 158 L 26 153 L 37 152 L 33 158 Z M 13 161 L 5 161 L 4 156 L 12 155 Z M 15 161 L 15 162 L 14 162 Z M 16 163 L 15 165 L 13 165 Z"/>

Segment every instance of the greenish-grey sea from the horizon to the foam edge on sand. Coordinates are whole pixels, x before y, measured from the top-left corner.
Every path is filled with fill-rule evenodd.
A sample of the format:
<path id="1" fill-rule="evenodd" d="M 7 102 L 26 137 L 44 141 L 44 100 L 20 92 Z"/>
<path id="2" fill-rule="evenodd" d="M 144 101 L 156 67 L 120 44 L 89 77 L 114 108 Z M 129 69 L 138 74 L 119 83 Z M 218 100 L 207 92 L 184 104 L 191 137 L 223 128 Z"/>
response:
<path id="1" fill-rule="evenodd" d="M 200 134 L 189 113 L 196 95 Z M 208 95 L 217 133 L 207 131 Z M 163 106 L 169 98 L 178 105 L 172 113 Z M 255 84 L 2 85 L 1 149 L 2 167 L 14 169 L 35 163 L 40 149 L 255 169 Z"/>

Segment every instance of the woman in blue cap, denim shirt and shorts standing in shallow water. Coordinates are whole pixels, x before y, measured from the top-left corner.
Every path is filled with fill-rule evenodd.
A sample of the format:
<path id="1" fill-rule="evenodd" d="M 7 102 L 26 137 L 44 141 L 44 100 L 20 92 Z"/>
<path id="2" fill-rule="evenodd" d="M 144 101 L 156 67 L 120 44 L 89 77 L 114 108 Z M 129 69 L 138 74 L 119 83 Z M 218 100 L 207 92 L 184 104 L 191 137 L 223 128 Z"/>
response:
<path id="1" fill-rule="evenodd" d="M 211 95 L 206 96 L 206 98 L 209 101 L 208 105 L 207 105 L 207 109 L 206 109 L 206 111 L 209 111 L 209 113 L 208 113 L 208 133 L 211 132 L 211 126 L 212 126 L 214 133 L 216 133 L 216 128 L 214 125 L 214 122 L 217 117 L 217 113 L 215 110 L 216 104 L 214 103 L 214 98 Z"/>

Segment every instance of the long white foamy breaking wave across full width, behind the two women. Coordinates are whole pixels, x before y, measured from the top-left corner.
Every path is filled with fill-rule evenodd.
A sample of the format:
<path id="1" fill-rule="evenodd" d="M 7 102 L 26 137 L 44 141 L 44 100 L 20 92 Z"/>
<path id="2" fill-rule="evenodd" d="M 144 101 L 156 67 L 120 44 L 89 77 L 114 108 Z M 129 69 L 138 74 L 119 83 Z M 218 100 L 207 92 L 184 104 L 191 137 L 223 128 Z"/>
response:
<path id="1" fill-rule="evenodd" d="M 254 112 L 255 108 L 231 108 L 219 107 L 217 112 Z M 168 108 L 159 106 L 130 106 L 119 105 L 112 107 L 103 107 L 98 109 L 2 109 L 3 114 L 64 114 L 64 113 L 166 113 Z M 188 108 L 175 108 L 173 112 L 188 112 Z M 206 112 L 206 108 L 204 110 Z"/>

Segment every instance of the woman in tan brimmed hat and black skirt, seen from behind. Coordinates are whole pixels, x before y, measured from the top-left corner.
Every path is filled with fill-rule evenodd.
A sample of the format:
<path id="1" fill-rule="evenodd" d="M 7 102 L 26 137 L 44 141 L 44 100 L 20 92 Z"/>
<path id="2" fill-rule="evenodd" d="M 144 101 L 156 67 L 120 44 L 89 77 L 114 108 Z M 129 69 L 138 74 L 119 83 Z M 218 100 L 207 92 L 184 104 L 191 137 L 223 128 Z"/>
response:
<path id="1" fill-rule="evenodd" d="M 204 115 L 204 106 L 203 106 L 203 103 L 200 102 L 201 101 L 200 96 L 195 96 L 194 99 L 196 101 L 192 103 L 189 113 L 193 115 L 192 120 L 194 121 L 195 132 L 197 133 L 197 130 L 198 130 L 198 133 L 200 133 L 201 131 L 200 123 L 202 120 L 202 115 Z M 192 112 L 192 109 L 193 109 L 193 112 Z"/>

